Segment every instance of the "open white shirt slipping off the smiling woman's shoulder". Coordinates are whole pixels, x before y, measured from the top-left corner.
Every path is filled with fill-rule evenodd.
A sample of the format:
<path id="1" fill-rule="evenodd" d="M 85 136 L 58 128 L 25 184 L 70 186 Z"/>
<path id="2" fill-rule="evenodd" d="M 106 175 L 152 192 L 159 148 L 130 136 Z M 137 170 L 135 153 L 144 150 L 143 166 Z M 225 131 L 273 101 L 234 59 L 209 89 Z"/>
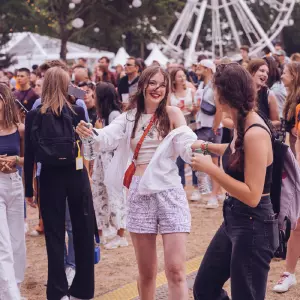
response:
<path id="1" fill-rule="evenodd" d="M 111 172 L 107 172 L 104 178 L 106 187 L 112 193 L 123 190 L 124 174 L 132 160 L 130 141 L 135 114 L 136 110 L 125 112 L 105 128 L 95 129 L 99 135 L 94 139 L 102 151 L 117 148 L 110 162 Z M 188 126 L 172 130 L 155 151 L 141 178 L 138 192 L 146 195 L 180 187 L 176 159 L 180 155 L 187 163 L 191 163 L 191 145 L 196 140 L 196 134 Z"/>

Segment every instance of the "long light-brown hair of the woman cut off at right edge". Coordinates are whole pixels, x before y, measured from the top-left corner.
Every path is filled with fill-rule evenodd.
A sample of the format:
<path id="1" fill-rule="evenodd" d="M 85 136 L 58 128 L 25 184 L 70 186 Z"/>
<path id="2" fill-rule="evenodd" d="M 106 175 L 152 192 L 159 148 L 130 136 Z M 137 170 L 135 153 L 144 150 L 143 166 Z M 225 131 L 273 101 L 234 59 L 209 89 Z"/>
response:
<path id="1" fill-rule="evenodd" d="M 291 86 L 288 89 L 283 116 L 290 121 L 295 117 L 296 106 L 300 103 L 300 63 L 291 62 L 286 65 L 287 69 L 293 77 Z"/>

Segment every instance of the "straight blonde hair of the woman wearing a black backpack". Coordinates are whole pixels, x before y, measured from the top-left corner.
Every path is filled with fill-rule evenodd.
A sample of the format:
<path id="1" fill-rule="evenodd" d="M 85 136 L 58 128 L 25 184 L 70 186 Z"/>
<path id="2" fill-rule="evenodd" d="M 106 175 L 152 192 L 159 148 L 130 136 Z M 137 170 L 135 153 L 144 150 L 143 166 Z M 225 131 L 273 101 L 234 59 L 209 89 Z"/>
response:
<path id="1" fill-rule="evenodd" d="M 72 110 L 71 104 L 67 101 L 69 83 L 70 76 L 62 68 L 53 67 L 47 70 L 42 89 L 42 114 L 50 110 L 60 116 L 65 105 Z"/>

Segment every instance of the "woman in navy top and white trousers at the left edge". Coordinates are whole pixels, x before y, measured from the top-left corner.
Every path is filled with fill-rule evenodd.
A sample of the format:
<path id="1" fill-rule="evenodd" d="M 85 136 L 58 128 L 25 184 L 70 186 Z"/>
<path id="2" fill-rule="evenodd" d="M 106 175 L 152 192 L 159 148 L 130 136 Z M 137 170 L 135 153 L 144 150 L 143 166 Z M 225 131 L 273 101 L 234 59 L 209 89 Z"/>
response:
<path id="1" fill-rule="evenodd" d="M 24 188 L 17 170 L 24 162 L 24 125 L 15 97 L 0 84 L 0 298 L 20 299 L 26 249 Z"/>

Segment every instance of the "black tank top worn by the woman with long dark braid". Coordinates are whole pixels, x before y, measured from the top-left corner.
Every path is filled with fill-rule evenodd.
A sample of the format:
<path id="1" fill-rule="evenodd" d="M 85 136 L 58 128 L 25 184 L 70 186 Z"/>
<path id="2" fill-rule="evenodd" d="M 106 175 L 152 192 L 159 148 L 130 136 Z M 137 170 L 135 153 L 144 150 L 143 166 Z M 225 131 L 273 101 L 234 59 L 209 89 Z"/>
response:
<path id="1" fill-rule="evenodd" d="M 261 124 L 252 124 L 251 126 L 249 126 L 247 128 L 247 130 L 245 131 L 245 134 L 252 127 L 261 127 L 270 134 L 270 132 L 267 130 L 267 128 L 264 127 Z M 238 181 L 245 182 L 244 171 L 238 171 L 238 170 L 234 170 L 234 169 L 230 168 L 229 162 L 230 162 L 230 156 L 232 155 L 230 145 L 231 145 L 231 143 L 228 145 L 228 147 L 227 147 L 227 149 L 226 149 L 226 151 L 225 151 L 225 153 L 223 154 L 223 157 L 222 157 L 224 172 L 226 174 L 228 174 L 229 176 L 231 176 L 232 178 L 238 180 Z M 273 172 L 273 163 L 271 163 L 267 167 L 267 170 L 266 170 L 266 177 L 265 177 L 265 184 L 264 184 L 263 194 L 269 194 L 270 191 L 271 191 L 272 172 Z"/>

